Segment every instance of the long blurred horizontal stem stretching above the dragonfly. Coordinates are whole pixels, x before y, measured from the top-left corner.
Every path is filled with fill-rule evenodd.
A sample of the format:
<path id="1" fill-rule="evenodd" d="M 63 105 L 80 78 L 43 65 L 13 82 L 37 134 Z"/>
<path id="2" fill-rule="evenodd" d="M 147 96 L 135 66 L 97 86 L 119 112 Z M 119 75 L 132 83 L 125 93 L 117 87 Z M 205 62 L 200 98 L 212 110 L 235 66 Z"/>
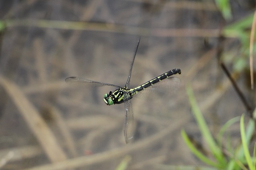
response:
<path id="1" fill-rule="evenodd" d="M 59 20 L 5 20 L 7 27 L 34 26 L 37 28 L 52 28 L 62 30 L 89 30 L 98 32 L 125 33 L 138 36 L 156 36 L 156 37 L 218 37 L 219 29 L 197 29 L 197 28 L 179 28 L 164 29 L 145 27 L 124 26 L 112 23 L 96 22 L 71 22 Z"/>

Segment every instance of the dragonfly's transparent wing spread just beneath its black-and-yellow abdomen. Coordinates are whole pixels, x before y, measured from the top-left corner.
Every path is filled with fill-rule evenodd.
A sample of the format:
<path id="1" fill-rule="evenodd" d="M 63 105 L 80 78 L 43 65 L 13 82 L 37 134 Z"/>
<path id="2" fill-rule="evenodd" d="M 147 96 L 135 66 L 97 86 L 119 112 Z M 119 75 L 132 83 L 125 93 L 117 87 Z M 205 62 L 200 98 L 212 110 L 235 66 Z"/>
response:
<path id="1" fill-rule="evenodd" d="M 180 88 L 181 81 L 178 77 L 168 77 L 137 92 L 132 97 L 140 99 L 156 99 L 168 93 L 174 93 Z"/>

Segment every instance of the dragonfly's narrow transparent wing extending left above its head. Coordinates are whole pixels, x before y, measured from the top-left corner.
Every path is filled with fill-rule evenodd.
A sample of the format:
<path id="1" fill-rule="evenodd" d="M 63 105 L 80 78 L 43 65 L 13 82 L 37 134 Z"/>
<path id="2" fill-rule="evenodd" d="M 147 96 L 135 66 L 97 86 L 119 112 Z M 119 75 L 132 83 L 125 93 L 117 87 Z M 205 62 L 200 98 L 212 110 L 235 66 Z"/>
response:
<path id="1" fill-rule="evenodd" d="M 88 87 L 98 87 L 98 86 L 105 86 L 105 85 L 119 87 L 117 85 L 112 85 L 109 83 L 103 83 L 103 82 L 98 82 L 98 81 L 91 81 L 91 80 L 84 79 L 81 77 L 68 77 L 65 79 L 65 81 L 68 84 L 82 85 L 82 86 L 88 86 Z"/>

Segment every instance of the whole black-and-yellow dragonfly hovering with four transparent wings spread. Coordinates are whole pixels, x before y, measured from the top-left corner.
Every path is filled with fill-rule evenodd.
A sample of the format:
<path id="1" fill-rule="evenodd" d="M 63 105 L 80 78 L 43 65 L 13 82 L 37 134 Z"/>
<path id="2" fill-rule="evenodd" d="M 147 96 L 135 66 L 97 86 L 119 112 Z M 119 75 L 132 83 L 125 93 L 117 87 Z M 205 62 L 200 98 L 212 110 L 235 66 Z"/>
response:
<path id="1" fill-rule="evenodd" d="M 129 89 L 130 78 L 132 74 L 132 67 L 134 63 L 134 59 L 138 50 L 138 46 L 140 43 L 140 39 L 135 48 L 134 56 L 132 59 L 132 63 L 130 66 L 130 72 L 128 75 L 128 79 L 124 87 L 113 85 L 109 83 L 103 83 L 98 81 L 91 81 L 88 79 L 84 79 L 81 77 L 68 77 L 65 79 L 66 83 L 72 85 L 83 85 L 88 87 L 100 87 L 100 86 L 112 86 L 116 87 L 115 91 L 110 91 L 104 95 L 104 102 L 106 105 L 115 105 L 124 103 L 125 108 L 125 123 L 124 123 L 124 137 L 126 143 L 132 142 L 134 140 L 134 117 L 133 117 L 133 107 L 130 99 L 132 97 L 138 97 L 140 99 L 156 99 L 157 97 L 161 97 L 166 93 L 172 93 L 176 91 L 181 84 L 181 81 L 178 77 L 171 77 L 175 74 L 181 74 L 180 69 L 172 69 L 166 73 L 163 73 L 146 83 L 139 85 L 138 87 L 134 87 Z"/>

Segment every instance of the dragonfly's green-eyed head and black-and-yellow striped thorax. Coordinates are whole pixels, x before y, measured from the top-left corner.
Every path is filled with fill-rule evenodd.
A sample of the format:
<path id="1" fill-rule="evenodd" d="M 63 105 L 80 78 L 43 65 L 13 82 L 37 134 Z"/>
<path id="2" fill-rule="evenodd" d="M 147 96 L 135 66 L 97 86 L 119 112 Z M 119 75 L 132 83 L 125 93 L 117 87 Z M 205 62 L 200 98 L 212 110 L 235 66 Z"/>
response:
<path id="1" fill-rule="evenodd" d="M 107 105 L 124 103 L 124 99 L 129 100 L 132 98 L 130 95 L 126 95 L 127 97 L 124 97 L 126 93 L 128 93 L 128 91 L 120 87 L 113 93 L 112 91 L 110 91 L 109 94 L 106 93 L 103 100 Z"/>

